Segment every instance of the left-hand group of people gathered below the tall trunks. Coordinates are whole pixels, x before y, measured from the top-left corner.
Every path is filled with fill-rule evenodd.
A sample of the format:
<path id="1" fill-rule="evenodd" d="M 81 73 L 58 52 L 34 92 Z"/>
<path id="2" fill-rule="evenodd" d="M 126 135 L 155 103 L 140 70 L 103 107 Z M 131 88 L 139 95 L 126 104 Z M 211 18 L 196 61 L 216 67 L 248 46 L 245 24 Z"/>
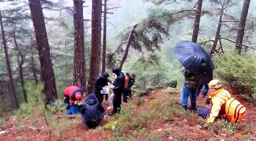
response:
<path id="1" fill-rule="evenodd" d="M 102 75 L 96 77 L 94 85 L 95 94 L 89 94 L 87 101 L 83 105 L 78 105 L 78 101 L 83 98 L 82 89 L 77 86 L 65 88 L 63 93 L 64 103 L 68 104 L 66 108 L 67 114 L 80 114 L 80 117 L 88 128 L 97 127 L 106 114 L 106 110 L 101 105 L 104 95 L 110 105 L 107 109 L 113 108 L 113 111 L 109 112 L 109 116 L 119 112 L 122 96 L 124 103 L 127 102 L 128 98 L 132 99 L 131 87 L 136 84 L 135 74 L 130 76 L 128 72 L 121 72 L 118 67 L 113 67 L 112 72 L 113 81 L 111 83 L 108 80 L 108 72 L 104 72 Z M 109 89 L 112 89 L 113 93 L 108 99 Z"/>

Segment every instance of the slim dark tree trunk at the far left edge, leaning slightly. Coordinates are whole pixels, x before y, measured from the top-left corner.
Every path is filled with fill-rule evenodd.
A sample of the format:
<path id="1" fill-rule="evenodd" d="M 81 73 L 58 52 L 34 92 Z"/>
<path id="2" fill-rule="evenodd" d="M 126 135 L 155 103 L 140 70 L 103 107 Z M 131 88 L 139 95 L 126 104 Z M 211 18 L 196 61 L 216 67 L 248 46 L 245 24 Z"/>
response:
<path id="1" fill-rule="evenodd" d="M 12 101 L 12 106 L 13 106 L 13 108 L 19 108 L 19 101 L 18 101 L 17 94 L 15 92 L 14 83 L 13 83 L 13 75 L 11 74 L 11 65 L 10 65 L 8 49 L 7 49 L 7 45 L 6 45 L 6 38 L 5 38 L 5 33 L 4 33 L 1 9 L 0 9 L 0 25 L 1 25 L 1 31 L 2 31 L 3 44 L 4 44 L 4 53 L 6 55 L 6 66 L 7 66 L 7 71 L 9 74 L 9 79 L 10 79 L 10 97 L 11 97 L 11 101 Z"/>

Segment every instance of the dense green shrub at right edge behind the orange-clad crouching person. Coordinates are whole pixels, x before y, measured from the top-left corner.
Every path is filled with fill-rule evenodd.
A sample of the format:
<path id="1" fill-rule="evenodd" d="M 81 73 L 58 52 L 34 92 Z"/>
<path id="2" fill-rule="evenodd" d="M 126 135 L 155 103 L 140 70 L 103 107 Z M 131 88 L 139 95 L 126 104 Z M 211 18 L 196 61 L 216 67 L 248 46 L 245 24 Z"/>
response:
<path id="1" fill-rule="evenodd" d="M 253 54 L 216 54 L 215 73 L 243 98 L 256 101 L 256 59 Z"/>

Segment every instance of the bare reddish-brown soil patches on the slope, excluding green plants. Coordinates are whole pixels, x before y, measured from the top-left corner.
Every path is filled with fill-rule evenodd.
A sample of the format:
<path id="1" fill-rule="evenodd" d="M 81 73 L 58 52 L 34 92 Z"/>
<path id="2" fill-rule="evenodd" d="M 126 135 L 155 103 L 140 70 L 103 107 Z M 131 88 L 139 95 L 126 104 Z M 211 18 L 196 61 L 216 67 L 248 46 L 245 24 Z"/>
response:
<path id="1" fill-rule="evenodd" d="M 149 105 L 150 101 L 156 99 L 158 101 L 163 102 L 167 100 L 167 97 L 172 97 L 173 99 L 176 99 L 176 101 L 180 102 L 180 94 L 169 94 L 167 91 L 163 91 L 167 89 L 165 87 L 164 89 L 154 90 L 144 96 L 147 101 L 143 105 Z M 129 102 L 137 102 L 137 96 L 134 96 L 134 100 L 130 100 Z M 198 97 L 197 107 L 206 107 L 205 105 L 205 98 L 201 98 L 201 95 Z M 256 107 L 252 105 L 252 103 L 249 103 L 243 99 L 237 98 L 245 107 L 247 107 L 247 115 L 244 121 L 241 121 L 241 124 L 250 124 L 255 129 L 252 130 L 251 136 L 256 136 Z M 102 103 L 102 105 L 106 108 L 108 107 L 108 102 L 105 101 Z M 122 103 L 123 106 L 126 104 Z M 209 107 L 208 107 L 209 108 Z M 139 110 L 140 107 L 138 107 Z M 182 110 L 180 108 L 180 110 Z M 159 109 L 161 112 L 161 109 Z M 111 110 L 106 111 L 106 117 L 102 119 L 102 122 L 100 123 L 100 127 L 103 127 L 107 123 L 109 123 L 110 119 L 113 121 L 114 119 L 117 119 L 117 115 L 115 117 L 109 117 L 108 113 L 111 112 Z M 9 116 L 9 113 L 3 113 L 5 117 Z M 196 114 L 196 113 L 195 113 Z M 48 141 L 51 134 L 51 140 L 52 141 L 106 141 L 109 139 L 109 137 L 113 136 L 115 133 L 110 130 L 103 131 L 101 128 L 96 129 L 87 129 L 84 125 L 82 119 L 80 117 L 76 116 L 73 119 L 69 119 L 65 116 L 65 112 L 60 113 L 59 115 L 59 123 L 57 124 L 65 124 L 66 120 L 74 121 L 71 123 L 71 126 L 67 126 L 65 130 L 58 129 L 58 127 L 50 127 L 51 132 L 48 130 L 48 127 L 46 125 L 46 121 L 43 116 L 37 117 L 35 115 L 31 116 L 30 118 L 20 116 L 20 117 L 11 117 L 7 121 L 5 121 L 1 127 L 0 132 L 5 131 L 4 134 L 0 135 L 0 141 Z M 27 120 L 21 120 L 26 119 Z M 47 119 L 48 122 L 51 119 Z M 157 119 L 156 119 L 157 120 Z M 160 140 L 187 140 L 187 137 L 189 137 L 189 140 L 200 140 L 200 141 L 208 141 L 208 140 L 247 140 L 243 135 L 245 134 L 243 132 L 243 129 L 233 133 L 233 134 L 227 134 L 226 136 L 222 136 L 221 134 L 212 134 L 208 130 L 198 130 L 197 124 L 198 120 L 200 120 L 200 117 L 197 117 L 195 120 L 191 121 L 190 119 L 187 119 L 186 117 L 179 117 L 174 116 L 173 119 L 168 120 L 159 120 L 158 125 L 152 126 L 150 124 L 144 125 L 144 127 L 147 127 L 147 129 L 156 131 L 158 133 Z M 19 125 L 18 125 L 19 123 Z M 70 122 L 69 122 L 70 123 Z M 129 133 L 129 128 L 126 128 L 123 132 L 127 132 L 127 136 Z M 256 138 L 255 138 L 256 139 Z M 137 136 L 137 140 L 143 140 L 143 136 Z M 252 139 L 253 140 L 253 139 Z"/>

